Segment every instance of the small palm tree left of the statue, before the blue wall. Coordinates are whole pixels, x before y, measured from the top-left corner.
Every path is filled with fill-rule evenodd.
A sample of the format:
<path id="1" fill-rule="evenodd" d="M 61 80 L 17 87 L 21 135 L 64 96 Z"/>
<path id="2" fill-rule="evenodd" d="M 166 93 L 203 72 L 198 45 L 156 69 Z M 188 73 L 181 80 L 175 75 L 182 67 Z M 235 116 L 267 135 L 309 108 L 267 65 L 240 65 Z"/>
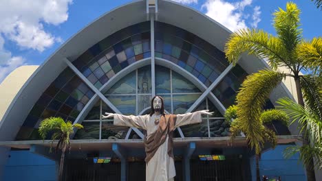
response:
<path id="1" fill-rule="evenodd" d="M 59 165 L 58 180 L 63 180 L 63 167 L 65 160 L 66 148 L 70 148 L 69 135 L 74 133 L 74 128 L 81 129 L 83 125 L 74 124 L 71 121 L 65 122 L 61 117 L 50 117 L 41 121 L 39 126 L 39 134 L 43 139 L 47 134 L 53 132 L 52 141 L 58 140 L 55 151 L 61 149 L 61 163 Z M 50 147 L 52 149 L 52 147 Z"/>

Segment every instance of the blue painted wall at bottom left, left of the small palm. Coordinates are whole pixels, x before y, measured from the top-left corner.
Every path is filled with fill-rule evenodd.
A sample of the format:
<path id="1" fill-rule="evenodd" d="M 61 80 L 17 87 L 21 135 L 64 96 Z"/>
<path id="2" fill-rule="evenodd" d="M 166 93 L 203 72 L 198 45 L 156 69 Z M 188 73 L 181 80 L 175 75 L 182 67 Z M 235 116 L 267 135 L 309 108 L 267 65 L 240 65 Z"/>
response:
<path id="1" fill-rule="evenodd" d="M 4 181 L 56 180 L 56 165 L 54 161 L 28 150 L 10 151 L 3 177 Z"/>

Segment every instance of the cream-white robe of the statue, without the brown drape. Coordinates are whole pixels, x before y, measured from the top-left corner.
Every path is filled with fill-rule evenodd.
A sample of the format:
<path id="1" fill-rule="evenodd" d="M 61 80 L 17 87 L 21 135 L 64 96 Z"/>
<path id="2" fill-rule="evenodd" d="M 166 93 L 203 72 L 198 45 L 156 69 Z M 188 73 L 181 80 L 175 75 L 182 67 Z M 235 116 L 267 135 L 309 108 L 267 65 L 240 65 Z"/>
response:
<path id="1" fill-rule="evenodd" d="M 193 123 L 200 123 L 202 121 L 200 112 L 189 112 L 186 114 L 176 114 L 175 128 Z M 152 117 L 147 115 L 143 116 L 125 116 L 122 114 L 114 114 L 114 125 L 123 125 L 129 127 L 140 128 L 147 130 L 147 138 L 155 132 L 158 125 L 155 125 L 155 114 Z M 146 180 L 147 181 L 167 181 L 173 180 L 175 177 L 175 165 L 173 158 L 167 154 L 169 136 L 167 135 L 166 141 L 158 148 L 155 155 L 147 163 L 146 167 Z"/>

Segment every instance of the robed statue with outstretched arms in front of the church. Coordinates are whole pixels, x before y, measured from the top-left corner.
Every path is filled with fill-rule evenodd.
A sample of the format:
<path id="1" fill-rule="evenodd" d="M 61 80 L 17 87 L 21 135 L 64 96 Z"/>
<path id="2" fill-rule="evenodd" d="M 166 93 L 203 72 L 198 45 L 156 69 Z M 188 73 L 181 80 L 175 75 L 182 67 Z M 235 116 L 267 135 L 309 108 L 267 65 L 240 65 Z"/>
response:
<path id="1" fill-rule="evenodd" d="M 147 181 L 167 181 L 175 177 L 173 160 L 173 130 L 182 125 L 200 123 L 202 114 L 212 114 L 208 110 L 199 110 L 186 114 L 164 114 L 164 103 L 160 96 L 151 100 L 150 114 L 125 116 L 108 113 L 103 119 L 114 117 L 114 125 L 122 125 L 147 130 L 144 146 L 147 154 L 145 162 Z"/>

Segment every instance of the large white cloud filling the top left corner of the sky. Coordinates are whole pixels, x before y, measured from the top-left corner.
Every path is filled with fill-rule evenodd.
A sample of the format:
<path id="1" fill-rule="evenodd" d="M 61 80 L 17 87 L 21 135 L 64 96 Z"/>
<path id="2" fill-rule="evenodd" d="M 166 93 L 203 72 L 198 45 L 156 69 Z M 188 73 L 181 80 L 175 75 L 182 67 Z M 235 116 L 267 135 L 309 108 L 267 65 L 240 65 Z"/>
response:
<path id="1" fill-rule="evenodd" d="M 57 42 L 43 25 L 59 25 L 67 20 L 72 0 L 0 1 L 0 34 L 21 48 L 43 51 Z"/>

